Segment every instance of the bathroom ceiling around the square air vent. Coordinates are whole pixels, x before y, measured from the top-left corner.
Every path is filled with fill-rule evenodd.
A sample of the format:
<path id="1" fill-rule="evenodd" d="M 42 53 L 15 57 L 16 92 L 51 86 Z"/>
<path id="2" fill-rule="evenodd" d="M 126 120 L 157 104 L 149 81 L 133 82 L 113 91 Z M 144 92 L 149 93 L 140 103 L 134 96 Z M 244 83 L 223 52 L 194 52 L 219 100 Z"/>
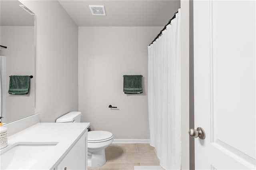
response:
<path id="1" fill-rule="evenodd" d="M 77 26 L 164 26 L 180 0 L 59 0 Z M 104 5 L 106 16 L 92 16 L 89 5 Z"/>

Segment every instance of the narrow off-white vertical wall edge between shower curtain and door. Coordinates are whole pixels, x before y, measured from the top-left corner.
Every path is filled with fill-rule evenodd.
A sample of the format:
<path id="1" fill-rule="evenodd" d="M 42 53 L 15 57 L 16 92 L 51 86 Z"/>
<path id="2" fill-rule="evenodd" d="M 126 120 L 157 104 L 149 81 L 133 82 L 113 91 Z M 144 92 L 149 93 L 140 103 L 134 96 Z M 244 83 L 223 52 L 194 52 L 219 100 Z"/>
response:
<path id="1" fill-rule="evenodd" d="M 182 170 L 190 169 L 189 148 L 189 3 L 190 0 L 181 0 L 181 141 Z"/>

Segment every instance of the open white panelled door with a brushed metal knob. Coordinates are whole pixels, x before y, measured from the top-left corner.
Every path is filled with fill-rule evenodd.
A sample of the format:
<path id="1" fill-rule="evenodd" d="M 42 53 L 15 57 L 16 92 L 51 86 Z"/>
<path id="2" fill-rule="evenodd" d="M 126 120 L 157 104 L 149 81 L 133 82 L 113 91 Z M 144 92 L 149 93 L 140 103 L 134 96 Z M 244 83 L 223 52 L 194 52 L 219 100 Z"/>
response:
<path id="1" fill-rule="evenodd" d="M 194 0 L 196 170 L 256 169 L 255 24 L 255 0 Z"/>

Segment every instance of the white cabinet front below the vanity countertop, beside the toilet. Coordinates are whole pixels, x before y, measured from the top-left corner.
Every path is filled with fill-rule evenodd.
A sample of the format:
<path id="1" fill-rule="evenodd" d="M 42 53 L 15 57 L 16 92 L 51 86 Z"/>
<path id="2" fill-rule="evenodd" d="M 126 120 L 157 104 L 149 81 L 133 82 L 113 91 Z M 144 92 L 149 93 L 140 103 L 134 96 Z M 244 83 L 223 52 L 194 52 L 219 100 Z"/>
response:
<path id="1" fill-rule="evenodd" d="M 54 170 L 87 170 L 87 134 L 86 130 Z"/>

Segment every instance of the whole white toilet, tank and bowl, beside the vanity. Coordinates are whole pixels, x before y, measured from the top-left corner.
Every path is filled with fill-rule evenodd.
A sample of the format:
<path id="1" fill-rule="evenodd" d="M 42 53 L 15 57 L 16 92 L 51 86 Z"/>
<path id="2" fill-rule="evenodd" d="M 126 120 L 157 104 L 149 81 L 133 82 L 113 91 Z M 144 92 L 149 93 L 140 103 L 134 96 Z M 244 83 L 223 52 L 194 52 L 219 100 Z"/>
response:
<path id="1" fill-rule="evenodd" d="M 76 123 L 81 121 L 81 112 L 69 112 L 58 118 L 56 123 Z M 88 167 L 96 168 L 106 163 L 105 148 L 113 142 L 111 132 L 94 130 L 88 132 Z"/>

